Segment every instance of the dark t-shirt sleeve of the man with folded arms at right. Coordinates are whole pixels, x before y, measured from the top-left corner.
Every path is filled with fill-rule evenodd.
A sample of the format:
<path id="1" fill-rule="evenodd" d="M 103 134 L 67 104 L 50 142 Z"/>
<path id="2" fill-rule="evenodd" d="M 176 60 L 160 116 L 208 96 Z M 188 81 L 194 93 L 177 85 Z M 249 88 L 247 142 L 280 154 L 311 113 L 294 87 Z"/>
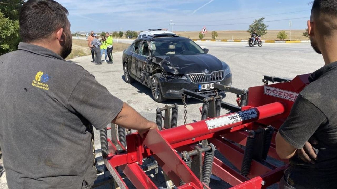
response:
<path id="1" fill-rule="evenodd" d="M 326 119 L 323 112 L 299 95 L 279 133 L 290 145 L 300 149 Z"/>

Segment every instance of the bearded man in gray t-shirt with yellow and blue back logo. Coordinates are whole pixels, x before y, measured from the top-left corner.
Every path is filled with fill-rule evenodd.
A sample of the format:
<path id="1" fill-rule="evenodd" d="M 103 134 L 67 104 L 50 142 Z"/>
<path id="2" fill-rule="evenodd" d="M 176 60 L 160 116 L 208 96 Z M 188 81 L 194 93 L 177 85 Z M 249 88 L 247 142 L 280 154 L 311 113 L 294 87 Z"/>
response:
<path id="1" fill-rule="evenodd" d="M 20 11 L 23 42 L 0 56 L 0 145 L 9 189 L 89 188 L 97 173 L 93 127 L 113 122 L 141 135 L 157 128 L 64 60 L 72 45 L 67 13 L 53 0 L 28 0 Z"/>

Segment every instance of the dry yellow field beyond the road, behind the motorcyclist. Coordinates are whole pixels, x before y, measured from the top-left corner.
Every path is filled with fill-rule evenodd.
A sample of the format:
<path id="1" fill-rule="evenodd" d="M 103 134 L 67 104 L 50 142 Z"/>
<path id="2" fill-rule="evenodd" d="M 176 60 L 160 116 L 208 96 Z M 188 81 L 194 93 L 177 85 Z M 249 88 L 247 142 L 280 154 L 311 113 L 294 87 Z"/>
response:
<path id="1" fill-rule="evenodd" d="M 262 37 L 263 40 L 279 40 L 277 38 L 278 32 L 281 30 L 268 30 L 267 34 Z M 236 40 L 248 40 L 250 34 L 246 31 L 216 31 L 218 37 L 216 39 L 236 39 Z M 288 37 L 285 40 L 290 40 L 290 31 L 286 30 Z M 305 30 L 292 30 L 292 40 L 308 40 L 308 38 L 302 36 Z M 182 37 L 189 37 L 190 39 L 199 39 L 199 32 L 174 32 Z M 205 34 L 204 39 L 212 39 L 212 31 L 208 31 Z"/>

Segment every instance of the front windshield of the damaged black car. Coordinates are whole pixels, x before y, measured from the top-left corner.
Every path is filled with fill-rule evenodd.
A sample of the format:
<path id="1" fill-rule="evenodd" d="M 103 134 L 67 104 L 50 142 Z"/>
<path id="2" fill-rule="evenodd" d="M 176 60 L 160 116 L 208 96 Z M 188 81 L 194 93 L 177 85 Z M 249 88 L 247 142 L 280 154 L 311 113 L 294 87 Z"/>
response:
<path id="1" fill-rule="evenodd" d="M 154 56 L 205 54 L 204 50 L 191 40 L 153 41 Z"/>

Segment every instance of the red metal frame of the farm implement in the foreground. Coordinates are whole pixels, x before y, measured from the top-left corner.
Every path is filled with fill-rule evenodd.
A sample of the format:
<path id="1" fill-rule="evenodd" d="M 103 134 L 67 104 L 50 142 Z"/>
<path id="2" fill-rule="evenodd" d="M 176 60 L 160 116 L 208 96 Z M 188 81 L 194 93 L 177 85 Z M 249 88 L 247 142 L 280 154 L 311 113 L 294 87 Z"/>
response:
<path id="1" fill-rule="evenodd" d="M 165 129 L 162 131 L 150 130 L 142 139 L 138 134 L 127 135 L 127 151 L 117 151 L 116 146 L 108 139 L 110 154 L 105 160 L 109 171 L 122 188 L 127 188 L 121 177 L 116 173 L 115 167 L 128 177 L 136 188 L 156 188 L 153 182 L 140 168 L 143 158 L 153 156 L 162 167 L 165 174 L 179 186 L 179 179 L 187 184 L 179 189 L 208 188 L 186 166 L 176 150 L 191 150 L 196 141 L 208 139 L 216 146 L 216 149 L 227 158 L 236 169 L 241 169 L 244 150 L 237 144 L 245 145 L 247 133 L 244 129 L 257 129 L 260 126 L 272 125 L 275 127 L 274 135 L 286 119 L 294 103 L 293 100 L 285 99 L 289 96 L 286 91 L 300 92 L 309 82 L 308 74 L 295 77 L 286 83 L 276 83 L 265 86 L 250 87 L 248 93 L 248 106 L 242 107 L 242 111 L 222 115 L 186 125 Z M 267 94 L 265 87 L 276 88 L 279 94 L 271 96 Z M 284 95 L 282 96 L 282 91 Z M 234 114 L 255 110 L 257 116 L 238 122 L 231 122 L 215 128 L 209 128 L 207 121 L 228 117 Z M 235 142 L 235 143 L 234 143 Z M 237 144 L 236 144 L 237 143 Z M 120 145 L 122 146 L 122 145 Z M 275 151 L 275 139 L 270 145 L 269 156 L 279 159 Z M 268 164 L 269 166 L 266 166 Z M 219 159 L 214 158 L 212 173 L 225 182 L 231 184 L 232 189 L 260 189 L 277 183 L 283 175 L 283 170 L 288 165 L 276 167 L 267 162 L 252 160 L 250 173 L 247 177 L 242 176 L 236 169 L 225 165 Z"/>

